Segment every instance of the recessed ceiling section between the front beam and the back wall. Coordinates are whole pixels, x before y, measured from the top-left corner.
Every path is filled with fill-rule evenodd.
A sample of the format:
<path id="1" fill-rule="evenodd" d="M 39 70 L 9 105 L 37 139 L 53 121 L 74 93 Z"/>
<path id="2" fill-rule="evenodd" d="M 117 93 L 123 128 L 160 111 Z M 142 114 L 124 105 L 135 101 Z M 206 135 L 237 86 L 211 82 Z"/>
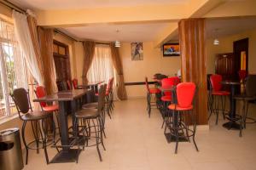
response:
<path id="1" fill-rule="evenodd" d="M 96 25 L 61 28 L 78 39 L 93 39 L 113 42 L 147 42 L 154 41 L 168 23 L 132 24 L 132 25 Z M 119 30 L 117 33 L 116 30 Z"/>

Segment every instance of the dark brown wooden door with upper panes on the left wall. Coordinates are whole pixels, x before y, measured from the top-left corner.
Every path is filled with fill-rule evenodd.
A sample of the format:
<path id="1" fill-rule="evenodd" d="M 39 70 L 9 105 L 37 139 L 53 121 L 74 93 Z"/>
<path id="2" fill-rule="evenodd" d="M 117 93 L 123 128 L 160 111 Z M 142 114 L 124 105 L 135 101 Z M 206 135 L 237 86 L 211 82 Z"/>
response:
<path id="1" fill-rule="evenodd" d="M 54 60 L 56 71 L 56 83 L 59 91 L 63 90 L 63 82 L 71 82 L 71 70 L 68 46 L 64 43 L 54 41 Z"/>

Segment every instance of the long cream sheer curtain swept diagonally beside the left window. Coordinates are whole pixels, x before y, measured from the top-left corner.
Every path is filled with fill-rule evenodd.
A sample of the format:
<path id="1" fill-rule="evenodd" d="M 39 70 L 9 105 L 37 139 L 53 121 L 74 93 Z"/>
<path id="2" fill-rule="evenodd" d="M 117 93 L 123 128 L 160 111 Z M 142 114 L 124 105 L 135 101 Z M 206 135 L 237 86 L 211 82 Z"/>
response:
<path id="1" fill-rule="evenodd" d="M 24 54 L 26 65 L 31 72 L 32 77 L 39 85 L 44 85 L 43 77 L 38 67 L 38 61 L 32 44 L 32 37 L 26 20 L 26 14 L 21 14 L 13 10 L 13 19 L 15 23 L 15 36 L 20 44 Z"/>

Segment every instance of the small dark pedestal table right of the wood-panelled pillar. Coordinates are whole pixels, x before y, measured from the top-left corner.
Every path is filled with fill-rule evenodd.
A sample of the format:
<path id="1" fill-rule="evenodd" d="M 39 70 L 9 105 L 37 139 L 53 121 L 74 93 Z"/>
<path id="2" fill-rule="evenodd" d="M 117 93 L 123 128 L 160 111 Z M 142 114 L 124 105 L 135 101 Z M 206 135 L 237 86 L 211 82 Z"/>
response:
<path id="1" fill-rule="evenodd" d="M 224 85 L 230 85 L 231 87 L 231 94 L 230 94 L 230 122 L 226 122 L 223 124 L 223 127 L 227 129 L 240 129 L 240 125 L 236 123 L 236 99 L 234 99 L 236 93 L 236 87 L 241 85 L 241 82 L 238 81 L 223 81 L 220 82 Z"/>

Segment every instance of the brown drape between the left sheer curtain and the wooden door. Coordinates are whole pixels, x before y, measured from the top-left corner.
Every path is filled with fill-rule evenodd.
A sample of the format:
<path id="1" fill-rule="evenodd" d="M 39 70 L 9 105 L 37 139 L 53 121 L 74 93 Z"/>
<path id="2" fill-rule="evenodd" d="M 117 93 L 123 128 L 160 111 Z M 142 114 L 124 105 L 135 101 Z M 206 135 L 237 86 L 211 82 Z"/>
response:
<path id="1" fill-rule="evenodd" d="M 55 94 L 58 88 L 53 57 L 53 29 L 38 27 L 38 37 L 44 69 L 44 86 L 47 94 Z"/>

